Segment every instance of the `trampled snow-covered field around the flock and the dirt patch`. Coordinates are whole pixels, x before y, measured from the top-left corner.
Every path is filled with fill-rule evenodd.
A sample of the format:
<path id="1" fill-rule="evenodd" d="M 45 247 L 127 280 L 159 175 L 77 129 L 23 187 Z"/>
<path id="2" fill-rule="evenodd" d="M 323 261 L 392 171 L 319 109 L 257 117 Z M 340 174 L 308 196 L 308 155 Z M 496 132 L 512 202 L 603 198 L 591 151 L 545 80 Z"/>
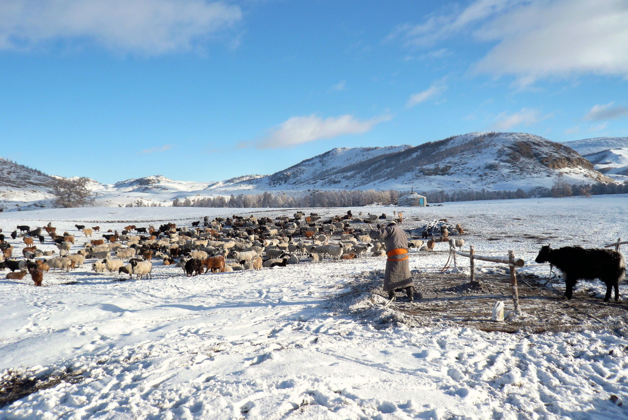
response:
<path id="1" fill-rule="evenodd" d="M 323 217 L 347 210 L 313 209 Z M 625 195 L 351 210 L 402 211 L 404 229 L 447 218 L 468 232 L 465 249 L 472 244 L 486 256 L 512 249 L 526 261 L 518 271 L 538 276 L 549 274 L 534 263 L 543 243 L 601 247 L 628 238 Z M 294 211 L 53 209 L 0 214 L 0 227 L 8 235 L 16 225 L 51 222 L 75 234 L 78 249 L 85 239 L 75 223 L 102 232 Z M 21 239 L 9 241 L 21 256 Z M 53 249 L 47 242 L 41 248 Z M 440 270 L 447 247 L 436 250 L 413 250 L 411 269 Z M 153 279 L 124 282 L 90 271 L 93 261 L 45 274 L 42 288 L 30 276 L 6 280 L 4 271 L 3 378 L 61 380 L 0 408 L 0 419 L 628 419 L 621 319 L 605 319 L 601 330 L 542 334 L 382 325 L 376 320 L 394 304 L 384 308 L 375 295 L 335 299 L 365 273 L 381 271 L 382 257 L 195 277 L 154 260 Z M 478 264 L 480 271 L 495 266 Z M 556 284 L 562 293 L 564 284 Z M 602 283 L 579 281 L 570 304 L 588 289 L 601 301 Z M 620 294 L 628 308 L 625 284 Z M 355 316 L 364 306 L 372 306 L 372 321 Z"/>

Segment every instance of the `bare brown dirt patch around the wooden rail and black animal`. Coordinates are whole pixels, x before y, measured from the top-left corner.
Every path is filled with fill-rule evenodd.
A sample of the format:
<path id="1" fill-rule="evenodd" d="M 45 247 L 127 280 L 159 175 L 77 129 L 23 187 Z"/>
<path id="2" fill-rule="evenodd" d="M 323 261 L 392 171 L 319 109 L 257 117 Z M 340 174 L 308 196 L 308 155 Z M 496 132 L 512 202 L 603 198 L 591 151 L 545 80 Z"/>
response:
<path id="1" fill-rule="evenodd" d="M 627 330 L 628 304 L 605 303 L 587 288 L 587 282 L 579 282 L 573 298 L 567 300 L 562 296 L 565 284 L 560 279 L 548 282 L 536 276 L 517 275 L 522 311 L 517 316 L 513 311 L 510 276 L 501 269 L 477 273 L 474 283 L 464 272 L 414 271 L 414 303 L 408 302 L 405 291 L 398 291 L 396 299 L 388 303 L 387 293 L 382 291 L 382 274 L 363 273 L 349 284 L 352 291 L 336 296 L 331 307 L 339 310 L 345 306 L 358 318 L 382 326 L 440 325 L 508 333 Z M 497 301 L 504 302 L 505 321 L 491 320 Z"/>

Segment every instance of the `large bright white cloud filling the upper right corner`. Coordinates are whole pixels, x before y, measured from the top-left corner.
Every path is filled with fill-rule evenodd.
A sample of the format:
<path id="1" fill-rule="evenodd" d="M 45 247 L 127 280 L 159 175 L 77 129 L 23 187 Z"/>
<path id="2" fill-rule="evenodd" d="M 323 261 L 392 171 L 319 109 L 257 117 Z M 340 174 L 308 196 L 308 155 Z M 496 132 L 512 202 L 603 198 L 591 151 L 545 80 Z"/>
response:
<path id="1" fill-rule="evenodd" d="M 494 43 L 475 72 L 516 75 L 526 85 L 544 77 L 628 76 L 625 0 L 476 0 L 453 13 L 396 28 L 389 38 L 432 46 L 472 35 Z"/>

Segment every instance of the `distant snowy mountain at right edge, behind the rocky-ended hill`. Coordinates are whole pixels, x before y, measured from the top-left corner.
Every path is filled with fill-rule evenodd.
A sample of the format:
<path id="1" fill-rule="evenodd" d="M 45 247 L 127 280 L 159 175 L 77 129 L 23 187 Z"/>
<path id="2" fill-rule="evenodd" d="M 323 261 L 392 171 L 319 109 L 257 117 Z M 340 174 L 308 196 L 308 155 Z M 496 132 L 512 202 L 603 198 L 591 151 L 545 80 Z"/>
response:
<path id="1" fill-rule="evenodd" d="M 587 158 L 595 170 L 619 180 L 628 179 L 628 137 L 597 137 L 563 144 Z"/>

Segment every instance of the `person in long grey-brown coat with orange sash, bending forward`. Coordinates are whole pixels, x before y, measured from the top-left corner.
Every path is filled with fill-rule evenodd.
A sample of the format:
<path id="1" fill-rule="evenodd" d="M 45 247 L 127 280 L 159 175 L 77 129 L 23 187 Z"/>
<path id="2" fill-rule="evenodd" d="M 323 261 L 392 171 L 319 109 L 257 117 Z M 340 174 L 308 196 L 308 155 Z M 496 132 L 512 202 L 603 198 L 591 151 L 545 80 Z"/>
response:
<path id="1" fill-rule="evenodd" d="M 379 227 L 379 226 L 378 226 Z M 408 262 L 408 236 L 396 222 L 386 227 L 369 232 L 371 239 L 383 240 L 386 246 L 386 272 L 384 273 L 384 291 L 392 299 L 396 289 L 406 289 L 409 301 L 414 301 L 414 281 L 410 275 Z"/>

